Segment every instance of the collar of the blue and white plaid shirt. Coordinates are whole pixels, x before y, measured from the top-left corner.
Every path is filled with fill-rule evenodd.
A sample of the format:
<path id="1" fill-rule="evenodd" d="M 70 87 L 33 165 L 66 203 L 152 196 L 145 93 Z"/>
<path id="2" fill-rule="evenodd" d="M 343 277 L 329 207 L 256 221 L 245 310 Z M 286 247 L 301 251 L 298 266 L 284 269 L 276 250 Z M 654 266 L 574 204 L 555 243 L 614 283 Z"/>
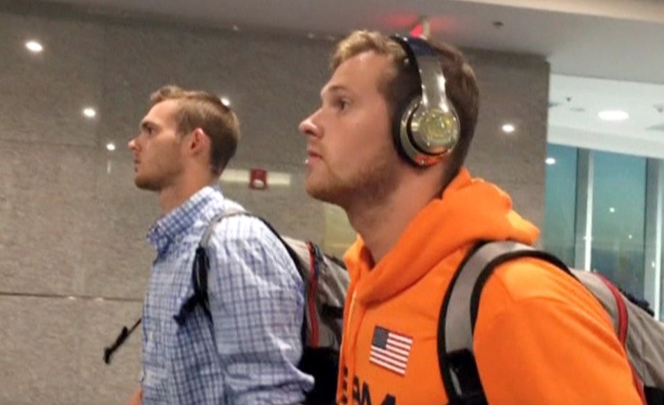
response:
<path id="1" fill-rule="evenodd" d="M 203 187 L 185 203 L 176 207 L 168 214 L 161 216 L 151 227 L 147 240 L 158 253 L 165 252 L 169 243 L 176 236 L 190 229 L 194 221 L 214 198 L 223 198 L 221 189 L 216 186 Z"/>

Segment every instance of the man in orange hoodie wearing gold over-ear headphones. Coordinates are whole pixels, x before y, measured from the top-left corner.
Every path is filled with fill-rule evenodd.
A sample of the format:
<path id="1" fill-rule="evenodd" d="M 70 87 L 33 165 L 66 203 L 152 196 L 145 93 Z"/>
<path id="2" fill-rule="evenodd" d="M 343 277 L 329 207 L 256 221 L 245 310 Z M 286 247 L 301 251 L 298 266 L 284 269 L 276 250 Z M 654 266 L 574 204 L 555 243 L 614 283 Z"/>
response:
<path id="1" fill-rule="evenodd" d="M 448 404 L 436 340 L 454 272 L 479 241 L 532 244 L 539 231 L 463 168 L 479 92 L 458 50 L 358 31 L 332 67 L 299 129 L 308 194 L 342 207 L 358 232 L 345 256 L 337 400 Z M 535 258 L 500 265 L 486 283 L 473 351 L 492 405 L 640 403 L 606 312 Z"/>

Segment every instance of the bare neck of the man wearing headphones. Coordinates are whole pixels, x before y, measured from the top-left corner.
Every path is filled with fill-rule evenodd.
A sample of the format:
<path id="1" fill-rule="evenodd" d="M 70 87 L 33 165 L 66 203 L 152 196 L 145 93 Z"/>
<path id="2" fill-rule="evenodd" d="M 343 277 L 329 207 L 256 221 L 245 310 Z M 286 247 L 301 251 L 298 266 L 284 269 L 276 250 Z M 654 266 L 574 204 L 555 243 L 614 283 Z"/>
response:
<path id="1" fill-rule="evenodd" d="M 396 245 L 418 212 L 431 200 L 440 197 L 439 188 L 435 183 L 430 184 L 418 179 L 403 181 L 400 187 L 382 202 L 363 200 L 353 202 L 347 207 L 349 222 L 362 236 L 365 246 L 371 252 L 371 267 L 380 262 Z"/>

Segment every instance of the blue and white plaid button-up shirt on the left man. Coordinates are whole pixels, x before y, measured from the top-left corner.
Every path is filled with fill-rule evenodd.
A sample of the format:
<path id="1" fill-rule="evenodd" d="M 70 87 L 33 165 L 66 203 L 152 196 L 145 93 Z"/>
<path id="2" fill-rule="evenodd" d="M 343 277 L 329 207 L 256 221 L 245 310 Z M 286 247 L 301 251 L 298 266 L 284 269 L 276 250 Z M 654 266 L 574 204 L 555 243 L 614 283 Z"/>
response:
<path id="1" fill-rule="evenodd" d="M 196 308 L 194 252 L 212 217 L 241 209 L 205 187 L 161 217 L 148 240 L 157 251 L 143 307 L 142 403 L 297 404 L 313 378 L 302 355 L 304 285 L 286 249 L 260 220 L 216 225 L 208 255 L 212 323 Z"/>

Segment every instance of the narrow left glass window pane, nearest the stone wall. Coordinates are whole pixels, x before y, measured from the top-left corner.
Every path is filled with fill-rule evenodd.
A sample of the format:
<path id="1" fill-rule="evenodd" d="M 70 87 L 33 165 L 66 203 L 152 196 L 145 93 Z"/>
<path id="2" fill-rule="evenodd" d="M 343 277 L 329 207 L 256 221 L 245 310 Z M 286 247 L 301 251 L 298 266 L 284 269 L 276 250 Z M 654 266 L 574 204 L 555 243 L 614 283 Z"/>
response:
<path id="1" fill-rule="evenodd" d="M 544 249 L 574 264 L 577 149 L 548 144 L 544 195 Z"/>

